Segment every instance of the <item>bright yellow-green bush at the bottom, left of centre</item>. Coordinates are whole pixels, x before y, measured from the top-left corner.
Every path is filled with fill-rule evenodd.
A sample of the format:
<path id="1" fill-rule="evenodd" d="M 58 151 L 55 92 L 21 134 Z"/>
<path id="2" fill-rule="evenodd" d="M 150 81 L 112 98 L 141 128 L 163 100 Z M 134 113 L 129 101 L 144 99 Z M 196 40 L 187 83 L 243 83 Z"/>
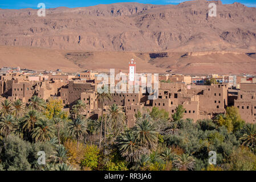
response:
<path id="1" fill-rule="evenodd" d="M 81 160 L 81 167 L 95 169 L 99 163 L 100 150 L 94 144 L 87 145 L 84 150 L 84 158 Z"/>

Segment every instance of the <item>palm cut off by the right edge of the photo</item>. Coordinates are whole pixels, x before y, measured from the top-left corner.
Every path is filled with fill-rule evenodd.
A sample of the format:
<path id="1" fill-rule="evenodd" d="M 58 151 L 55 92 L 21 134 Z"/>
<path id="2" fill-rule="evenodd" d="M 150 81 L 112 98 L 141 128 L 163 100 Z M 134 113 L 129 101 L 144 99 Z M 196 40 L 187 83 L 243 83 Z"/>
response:
<path id="1" fill-rule="evenodd" d="M 256 125 L 246 125 L 246 134 L 243 134 L 243 136 L 239 138 L 239 140 L 243 142 L 243 146 L 248 146 L 249 148 L 254 150 L 256 147 Z"/>

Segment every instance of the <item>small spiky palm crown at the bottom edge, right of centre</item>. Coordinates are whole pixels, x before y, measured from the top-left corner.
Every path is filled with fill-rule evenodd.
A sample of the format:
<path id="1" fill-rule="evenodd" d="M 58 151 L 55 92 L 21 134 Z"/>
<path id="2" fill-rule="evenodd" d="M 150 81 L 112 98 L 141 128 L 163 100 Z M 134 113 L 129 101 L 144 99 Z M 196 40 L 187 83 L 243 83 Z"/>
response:
<path id="1" fill-rule="evenodd" d="M 188 154 L 178 155 L 173 162 L 174 166 L 176 166 L 181 171 L 192 170 L 194 165 L 196 164 L 195 160 L 192 156 Z"/>

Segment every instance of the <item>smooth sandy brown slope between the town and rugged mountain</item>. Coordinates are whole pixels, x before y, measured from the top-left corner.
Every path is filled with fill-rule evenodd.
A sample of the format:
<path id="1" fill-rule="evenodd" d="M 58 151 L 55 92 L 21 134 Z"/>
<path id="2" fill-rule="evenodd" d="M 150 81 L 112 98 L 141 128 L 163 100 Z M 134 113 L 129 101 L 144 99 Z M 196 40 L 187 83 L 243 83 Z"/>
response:
<path id="1" fill-rule="evenodd" d="M 106 52 L 66 51 L 23 46 L 0 46 L 0 67 L 28 69 L 62 69 L 65 72 L 94 70 L 109 72 L 114 68 L 128 72 L 128 62 L 136 60 L 136 72 L 183 73 L 204 75 L 209 73 L 256 74 L 254 53 L 208 52 Z"/>

